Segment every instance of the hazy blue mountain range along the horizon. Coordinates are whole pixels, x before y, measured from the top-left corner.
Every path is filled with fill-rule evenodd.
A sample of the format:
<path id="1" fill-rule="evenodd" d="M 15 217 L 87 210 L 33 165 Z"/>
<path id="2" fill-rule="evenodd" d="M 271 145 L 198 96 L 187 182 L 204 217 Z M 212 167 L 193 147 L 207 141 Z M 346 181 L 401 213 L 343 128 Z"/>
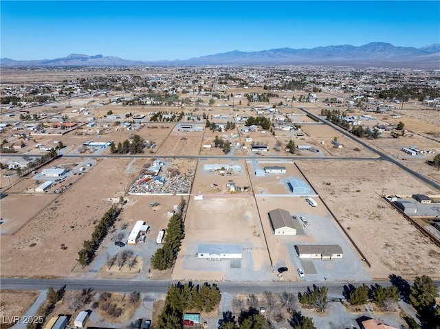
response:
<path id="1" fill-rule="evenodd" d="M 52 60 L 0 58 L 1 67 L 100 66 L 215 66 L 215 65 L 330 65 L 355 67 L 412 67 L 440 69 L 440 44 L 395 47 L 391 43 L 337 45 L 312 49 L 279 48 L 259 52 L 225 52 L 186 60 L 125 60 L 113 56 L 71 54 Z"/>

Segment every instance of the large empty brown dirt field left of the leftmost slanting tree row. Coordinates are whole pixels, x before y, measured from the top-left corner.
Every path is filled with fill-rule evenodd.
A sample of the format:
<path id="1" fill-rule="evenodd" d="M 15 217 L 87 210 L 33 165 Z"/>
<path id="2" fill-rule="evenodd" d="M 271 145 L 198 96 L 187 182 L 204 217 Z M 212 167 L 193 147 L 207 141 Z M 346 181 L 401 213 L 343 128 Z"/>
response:
<path id="1" fill-rule="evenodd" d="M 1 275 L 69 276 L 83 240 L 90 238 L 111 198 L 117 200 L 135 178 L 134 173 L 124 173 L 127 163 L 129 160 L 122 159 L 100 161 L 89 176 L 83 175 L 14 236 L 2 236 Z M 38 201 L 32 200 L 36 205 Z M 62 244 L 67 249 L 61 249 Z"/>

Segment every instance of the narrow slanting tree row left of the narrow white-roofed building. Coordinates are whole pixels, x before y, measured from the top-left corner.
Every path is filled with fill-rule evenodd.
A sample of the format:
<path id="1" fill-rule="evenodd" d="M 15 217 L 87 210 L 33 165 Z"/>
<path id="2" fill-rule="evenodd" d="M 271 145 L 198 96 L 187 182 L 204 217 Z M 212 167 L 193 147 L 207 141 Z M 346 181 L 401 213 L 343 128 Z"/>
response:
<path id="1" fill-rule="evenodd" d="M 78 251 L 78 262 L 84 267 L 91 263 L 95 257 L 96 250 L 100 246 L 102 240 L 109 232 L 109 229 L 115 223 L 116 218 L 120 213 L 117 205 L 112 205 L 109 210 L 102 216 L 98 225 L 96 225 L 94 232 L 91 234 L 91 240 L 83 242 L 83 249 Z"/>

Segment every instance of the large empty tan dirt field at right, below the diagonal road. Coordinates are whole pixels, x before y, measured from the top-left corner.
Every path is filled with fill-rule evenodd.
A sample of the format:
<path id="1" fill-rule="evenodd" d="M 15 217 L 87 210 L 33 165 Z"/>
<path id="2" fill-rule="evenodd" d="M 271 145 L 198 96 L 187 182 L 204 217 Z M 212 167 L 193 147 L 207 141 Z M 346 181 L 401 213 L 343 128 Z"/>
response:
<path id="1" fill-rule="evenodd" d="M 438 194 L 432 188 L 386 161 L 296 163 L 371 262 L 372 277 L 439 277 L 438 247 L 380 198 L 382 189 L 386 195 Z"/>

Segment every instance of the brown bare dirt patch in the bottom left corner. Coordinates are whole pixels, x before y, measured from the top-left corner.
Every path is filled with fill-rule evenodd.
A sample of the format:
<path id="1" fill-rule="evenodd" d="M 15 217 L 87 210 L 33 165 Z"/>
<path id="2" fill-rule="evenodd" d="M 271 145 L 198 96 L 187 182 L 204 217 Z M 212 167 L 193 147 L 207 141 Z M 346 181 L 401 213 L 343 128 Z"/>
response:
<path id="1" fill-rule="evenodd" d="M 0 302 L 0 328 L 12 326 L 10 320 L 13 317 L 21 317 L 25 311 L 35 302 L 39 295 L 37 291 L 1 291 Z"/>

